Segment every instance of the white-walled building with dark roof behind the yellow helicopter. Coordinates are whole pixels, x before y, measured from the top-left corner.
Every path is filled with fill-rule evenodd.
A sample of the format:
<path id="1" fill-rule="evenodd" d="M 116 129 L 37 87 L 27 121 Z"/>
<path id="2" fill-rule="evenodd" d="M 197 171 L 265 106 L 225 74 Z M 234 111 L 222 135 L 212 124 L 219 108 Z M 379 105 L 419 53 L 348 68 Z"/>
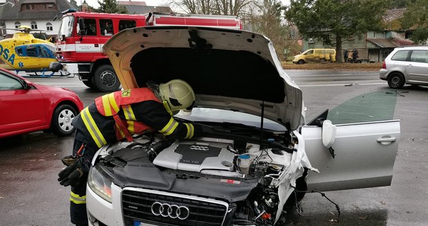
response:
<path id="1" fill-rule="evenodd" d="M 4 12 L 2 21 L 6 28 L 19 28 L 27 25 L 32 29 L 43 30 L 46 39 L 58 34 L 61 21 L 53 18 L 69 8 L 74 8 L 67 0 L 14 0 L 14 6 Z M 14 30 L 6 30 L 4 38 L 12 37 Z"/>

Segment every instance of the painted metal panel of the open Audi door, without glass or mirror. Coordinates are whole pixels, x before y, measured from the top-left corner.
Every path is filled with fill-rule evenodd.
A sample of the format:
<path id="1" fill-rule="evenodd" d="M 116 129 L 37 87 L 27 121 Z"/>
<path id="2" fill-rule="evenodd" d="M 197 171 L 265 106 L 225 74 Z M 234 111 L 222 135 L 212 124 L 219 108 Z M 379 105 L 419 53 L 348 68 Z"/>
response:
<path id="1" fill-rule="evenodd" d="M 302 128 L 311 165 L 309 190 L 333 191 L 391 185 L 400 140 L 400 121 L 335 125 L 333 154 L 322 143 L 322 127 Z"/>

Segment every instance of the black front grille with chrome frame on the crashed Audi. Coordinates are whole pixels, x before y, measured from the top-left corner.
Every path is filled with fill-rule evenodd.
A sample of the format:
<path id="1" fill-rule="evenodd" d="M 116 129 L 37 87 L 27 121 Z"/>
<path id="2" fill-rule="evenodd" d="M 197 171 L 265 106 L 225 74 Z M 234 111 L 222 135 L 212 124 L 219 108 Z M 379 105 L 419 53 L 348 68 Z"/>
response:
<path id="1" fill-rule="evenodd" d="M 228 204 L 208 198 L 184 196 L 148 189 L 124 189 L 125 225 L 134 221 L 153 225 L 222 225 Z"/>

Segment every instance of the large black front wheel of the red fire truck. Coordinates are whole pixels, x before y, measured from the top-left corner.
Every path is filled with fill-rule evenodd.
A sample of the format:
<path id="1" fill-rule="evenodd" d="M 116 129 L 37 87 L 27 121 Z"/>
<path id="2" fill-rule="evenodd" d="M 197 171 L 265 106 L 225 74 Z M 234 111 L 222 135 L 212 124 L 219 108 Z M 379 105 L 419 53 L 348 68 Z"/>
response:
<path id="1" fill-rule="evenodd" d="M 101 65 L 94 74 L 94 85 L 101 92 L 115 92 L 119 90 L 119 79 L 117 79 L 112 65 Z"/>

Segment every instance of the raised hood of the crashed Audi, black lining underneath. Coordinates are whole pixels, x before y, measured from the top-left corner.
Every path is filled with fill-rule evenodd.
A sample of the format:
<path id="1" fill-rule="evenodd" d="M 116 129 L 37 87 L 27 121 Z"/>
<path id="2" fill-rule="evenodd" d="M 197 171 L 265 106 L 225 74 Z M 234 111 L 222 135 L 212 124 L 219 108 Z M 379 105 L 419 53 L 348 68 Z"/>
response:
<path id="1" fill-rule="evenodd" d="M 302 91 L 261 34 L 187 26 L 131 28 L 109 39 L 104 52 L 124 89 L 183 79 L 195 91 L 197 107 L 263 112 L 264 118 L 291 130 L 302 122 Z"/>

